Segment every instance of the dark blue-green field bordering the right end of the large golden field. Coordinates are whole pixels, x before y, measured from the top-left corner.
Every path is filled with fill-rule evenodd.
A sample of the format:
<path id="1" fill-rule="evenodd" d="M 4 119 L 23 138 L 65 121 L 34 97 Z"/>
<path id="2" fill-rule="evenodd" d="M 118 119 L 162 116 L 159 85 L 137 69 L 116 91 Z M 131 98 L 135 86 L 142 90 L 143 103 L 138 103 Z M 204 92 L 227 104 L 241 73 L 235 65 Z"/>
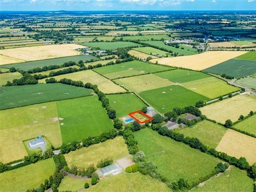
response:
<path id="1" fill-rule="evenodd" d="M 256 73 L 256 61 L 232 59 L 202 70 L 212 74 L 244 77 Z"/>

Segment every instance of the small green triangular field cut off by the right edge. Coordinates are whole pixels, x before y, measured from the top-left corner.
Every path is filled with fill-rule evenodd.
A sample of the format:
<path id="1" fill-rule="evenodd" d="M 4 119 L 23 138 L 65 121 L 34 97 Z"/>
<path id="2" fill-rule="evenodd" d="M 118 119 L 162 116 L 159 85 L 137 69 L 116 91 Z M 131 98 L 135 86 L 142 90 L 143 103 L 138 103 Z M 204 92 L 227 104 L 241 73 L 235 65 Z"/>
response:
<path id="1" fill-rule="evenodd" d="M 243 120 L 242 122 L 239 122 L 238 124 L 234 125 L 234 127 L 241 131 L 246 131 L 246 132 L 255 134 L 256 136 L 255 125 L 256 125 L 256 115 L 253 115 L 249 118 L 246 118 L 246 120 Z"/>

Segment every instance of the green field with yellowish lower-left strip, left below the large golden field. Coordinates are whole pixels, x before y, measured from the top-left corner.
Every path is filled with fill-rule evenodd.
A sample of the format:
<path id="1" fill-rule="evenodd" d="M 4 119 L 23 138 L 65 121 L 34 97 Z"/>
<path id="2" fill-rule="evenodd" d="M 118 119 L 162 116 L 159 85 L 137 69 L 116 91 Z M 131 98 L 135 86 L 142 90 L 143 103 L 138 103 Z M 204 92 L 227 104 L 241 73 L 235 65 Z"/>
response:
<path id="1" fill-rule="evenodd" d="M 161 65 L 153 65 L 142 61 L 129 61 L 120 63 L 118 65 L 109 65 L 106 67 L 95 68 L 94 71 L 102 74 L 108 79 L 115 79 L 171 69 L 173 68 L 164 67 Z"/>

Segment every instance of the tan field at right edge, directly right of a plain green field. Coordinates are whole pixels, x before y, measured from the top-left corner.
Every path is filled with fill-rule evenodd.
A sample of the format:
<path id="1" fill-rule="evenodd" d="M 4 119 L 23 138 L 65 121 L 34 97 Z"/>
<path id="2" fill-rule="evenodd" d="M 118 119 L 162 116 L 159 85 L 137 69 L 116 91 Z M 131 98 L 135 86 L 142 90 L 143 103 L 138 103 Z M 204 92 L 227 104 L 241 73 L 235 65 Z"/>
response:
<path id="1" fill-rule="evenodd" d="M 238 159 L 245 157 L 250 165 L 256 163 L 256 139 L 228 129 L 216 150 Z"/>

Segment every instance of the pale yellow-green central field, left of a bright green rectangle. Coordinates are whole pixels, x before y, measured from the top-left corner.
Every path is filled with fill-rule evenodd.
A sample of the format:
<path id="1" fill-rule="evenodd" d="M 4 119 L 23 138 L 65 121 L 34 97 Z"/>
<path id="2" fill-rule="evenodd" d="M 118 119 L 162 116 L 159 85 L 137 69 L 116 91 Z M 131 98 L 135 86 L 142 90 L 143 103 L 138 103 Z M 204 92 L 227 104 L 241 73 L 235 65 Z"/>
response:
<path id="1" fill-rule="evenodd" d="M 157 77 L 154 74 L 147 74 L 143 76 L 126 77 L 123 79 L 116 79 L 115 83 L 120 86 L 124 86 L 130 92 L 144 92 L 164 86 L 170 86 L 173 83 L 166 81 L 161 77 Z"/>

